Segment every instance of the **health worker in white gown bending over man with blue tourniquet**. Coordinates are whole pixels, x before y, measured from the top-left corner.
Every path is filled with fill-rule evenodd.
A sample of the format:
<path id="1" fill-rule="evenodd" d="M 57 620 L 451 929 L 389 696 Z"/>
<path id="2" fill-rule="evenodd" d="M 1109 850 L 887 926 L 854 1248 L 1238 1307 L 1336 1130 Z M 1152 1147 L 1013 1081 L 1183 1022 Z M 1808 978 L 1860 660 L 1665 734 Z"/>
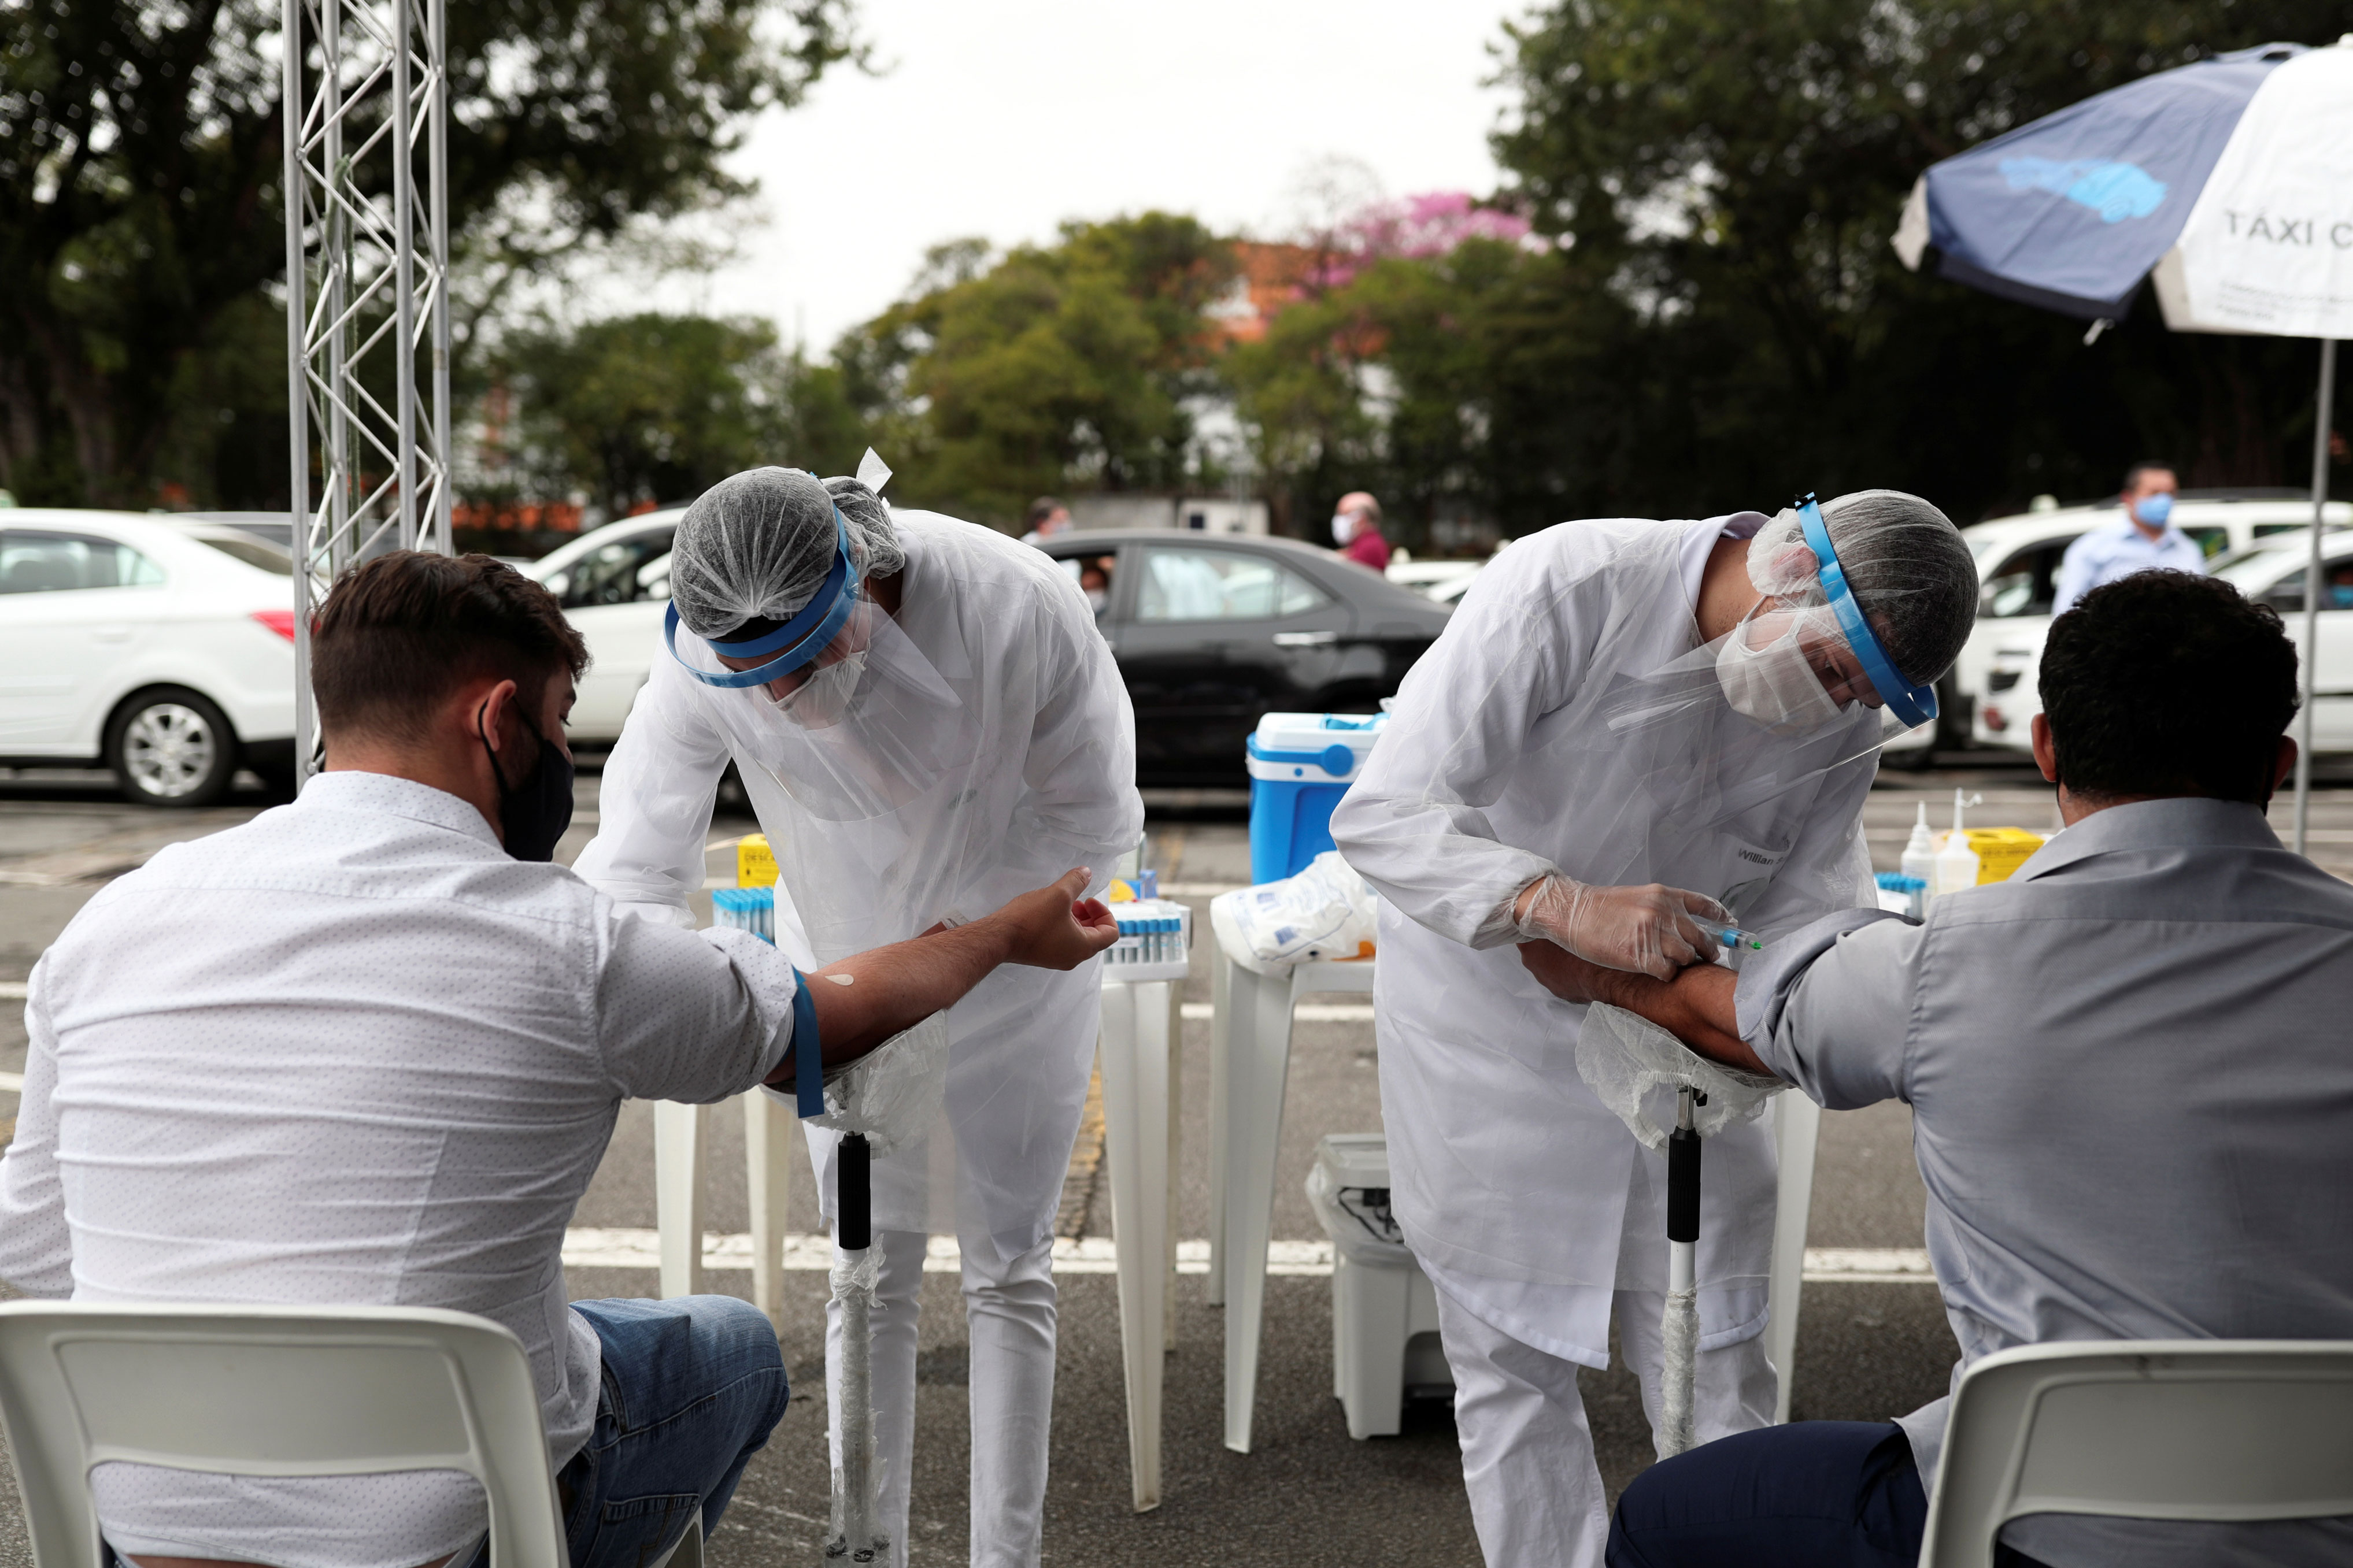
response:
<path id="1" fill-rule="evenodd" d="M 887 508 L 873 454 L 859 473 L 758 468 L 687 508 L 668 646 L 576 867 L 647 919 L 692 924 L 734 762 L 776 856 L 776 943 L 802 966 L 986 914 L 1049 882 L 1045 865 L 1094 867 L 1096 891 L 1144 832 L 1134 715 L 1078 583 L 991 529 Z M 1096 964 L 1000 969 L 948 1013 L 944 1126 L 875 1159 L 875 1439 L 899 1563 L 925 1237 L 948 1229 L 972 1331 L 972 1561 L 1038 1561 L 1052 1220 L 1099 1020 Z M 831 1218 L 833 1133 L 809 1128 L 809 1150 Z M 838 1309 L 826 1373 L 838 1389 Z"/>

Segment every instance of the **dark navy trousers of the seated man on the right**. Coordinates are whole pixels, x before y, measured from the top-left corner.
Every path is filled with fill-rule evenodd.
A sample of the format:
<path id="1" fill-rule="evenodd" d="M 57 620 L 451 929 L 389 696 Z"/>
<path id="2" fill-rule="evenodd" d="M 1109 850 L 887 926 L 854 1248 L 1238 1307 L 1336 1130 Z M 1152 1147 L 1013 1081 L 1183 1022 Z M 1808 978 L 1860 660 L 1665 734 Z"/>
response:
<path id="1" fill-rule="evenodd" d="M 1904 1427 L 1805 1420 L 1652 1465 L 1609 1521 L 1609 1568 L 1913 1568 L 1927 1493 Z M 2040 1568 L 1995 1547 L 1995 1568 Z"/>

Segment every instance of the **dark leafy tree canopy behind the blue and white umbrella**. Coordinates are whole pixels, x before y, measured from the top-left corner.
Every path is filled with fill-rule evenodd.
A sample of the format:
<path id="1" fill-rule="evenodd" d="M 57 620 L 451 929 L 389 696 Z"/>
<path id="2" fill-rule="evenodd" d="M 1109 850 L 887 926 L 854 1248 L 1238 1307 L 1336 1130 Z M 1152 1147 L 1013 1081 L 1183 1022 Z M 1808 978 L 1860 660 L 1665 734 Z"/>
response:
<path id="1" fill-rule="evenodd" d="M 1913 179 L 2125 80 L 2268 40 L 2325 0 L 1567 0 L 1511 26 L 1497 153 L 1586 287 L 1626 301 L 1652 411 L 1584 505 L 1682 510 L 1897 484 L 1962 522 L 2101 494 L 2169 451 L 2275 484 L 2311 440 L 2306 343 L 2082 324 L 1901 268 Z M 2301 425 L 2301 428 L 2299 428 Z"/>

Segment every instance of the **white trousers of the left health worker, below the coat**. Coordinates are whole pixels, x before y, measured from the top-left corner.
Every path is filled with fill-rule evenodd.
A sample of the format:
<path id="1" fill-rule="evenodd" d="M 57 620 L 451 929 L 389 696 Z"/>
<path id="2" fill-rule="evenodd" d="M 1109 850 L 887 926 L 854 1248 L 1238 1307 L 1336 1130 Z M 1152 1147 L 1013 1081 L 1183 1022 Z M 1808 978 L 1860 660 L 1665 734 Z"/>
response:
<path id="1" fill-rule="evenodd" d="M 873 1331 L 875 1455 L 892 1568 L 906 1568 L 906 1490 L 915 1458 L 915 1314 L 929 1237 L 878 1229 L 882 1307 Z M 965 1248 L 965 1326 L 972 1335 L 972 1563 L 1035 1568 L 1045 1521 L 1047 1422 L 1054 1413 L 1054 1239 L 1002 1267 Z M 1769 1403 L 1769 1401 L 1767 1401 Z M 826 1436 L 842 1465 L 842 1307 L 826 1302 Z"/>

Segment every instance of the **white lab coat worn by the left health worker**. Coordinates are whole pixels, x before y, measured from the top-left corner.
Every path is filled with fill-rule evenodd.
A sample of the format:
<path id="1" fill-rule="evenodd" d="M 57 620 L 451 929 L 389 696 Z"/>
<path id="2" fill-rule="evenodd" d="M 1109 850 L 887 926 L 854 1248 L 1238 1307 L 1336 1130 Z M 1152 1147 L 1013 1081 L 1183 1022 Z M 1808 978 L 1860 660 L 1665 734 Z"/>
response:
<path id="1" fill-rule="evenodd" d="M 734 759 L 779 865 L 776 938 L 798 964 L 972 919 L 1073 865 L 1101 889 L 1144 832 L 1134 712 L 1078 585 L 1045 555 L 936 512 L 894 510 L 906 545 L 896 628 L 962 703 L 934 788 L 904 811 L 819 820 L 769 773 L 753 691 L 704 686 L 664 649 L 605 764 L 598 837 L 579 875 L 624 907 L 692 924 L 704 839 Z M 680 646 L 689 644 L 680 628 Z M 854 722 L 854 719 L 852 719 Z M 946 1150 L 875 1161 L 880 1229 L 958 1229 L 1002 1258 L 1054 1220 L 1087 1098 L 1099 1030 L 1096 964 L 1071 973 L 1007 966 L 948 1013 Z M 828 1164 L 831 1135 L 812 1131 Z M 821 1192 L 831 1204 L 833 1182 Z"/>

